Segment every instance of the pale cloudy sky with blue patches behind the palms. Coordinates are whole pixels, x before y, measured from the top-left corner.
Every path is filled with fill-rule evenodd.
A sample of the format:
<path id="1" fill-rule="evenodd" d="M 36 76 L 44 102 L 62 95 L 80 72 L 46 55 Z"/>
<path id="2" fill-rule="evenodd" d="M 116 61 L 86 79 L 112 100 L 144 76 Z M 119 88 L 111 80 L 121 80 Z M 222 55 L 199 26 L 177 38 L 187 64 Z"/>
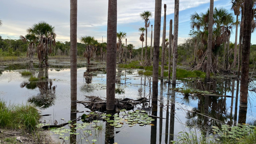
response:
<path id="1" fill-rule="evenodd" d="M 162 0 L 161 34 L 162 43 L 163 29 L 163 5 L 166 10 L 166 38 L 169 37 L 169 21 L 174 23 L 174 0 Z M 178 44 L 188 39 L 190 28 L 190 15 L 194 12 L 206 12 L 210 6 L 210 0 L 180 0 L 179 4 L 179 29 Z M 231 8 L 230 0 L 215 0 L 214 7 Z M 150 22 L 153 25 L 154 33 L 154 12 L 155 1 L 148 0 L 118 0 L 117 2 L 117 32 L 127 33 L 127 45 L 133 44 L 139 48 L 142 42 L 139 41 L 140 32 L 144 20 L 139 16 L 143 11 L 151 11 L 153 16 Z M 81 36 L 94 36 L 98 42 L 107 41 L 107 12 L 108 0 L 78 0 L 77 12 L 77 40 Z M 232 12 L 230 10 L 230 12 Z M 233 13 L 233 12 L 232 12 Z M 46 21 L 55 27 L 57 34 L 56 41 L 70 41 L 70 1 L 69 0 L 0 0 L 0 19 L 3 25 L 0 27 L 0 35 L 3 39 L 19 39 L 20 35 L 26 35 L 26 29 L 39 21 Z M 239 30 L 239 28 L 238 28 Z M 148 28 L 147 43 L 150 46 L 151 26 Z M 239 37 L 239 31 L 238 31 Z M 256 44 L 256 34 L 252 34 L 252 44 Z M 235 27 L 230 38 L 235 42 Z M 125 42 L 125 40 L 123 41 Z M 143 44 L 145 46 L 145 42 Z"/>

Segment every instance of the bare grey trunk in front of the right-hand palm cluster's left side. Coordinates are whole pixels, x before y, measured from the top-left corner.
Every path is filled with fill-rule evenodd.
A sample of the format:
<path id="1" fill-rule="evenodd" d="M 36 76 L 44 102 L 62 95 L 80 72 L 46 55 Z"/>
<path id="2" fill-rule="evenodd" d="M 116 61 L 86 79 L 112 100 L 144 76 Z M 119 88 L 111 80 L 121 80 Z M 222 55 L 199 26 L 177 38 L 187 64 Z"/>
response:
<path id="1" fill-rule="evenodd" d="M 206 81 L 210 81 L 211 62 L 212 62 L 213 5 L 214 5 L 214 0 L 210 0 L 209 28 L 208 28 L 208 45 L 207 45 Z"/>

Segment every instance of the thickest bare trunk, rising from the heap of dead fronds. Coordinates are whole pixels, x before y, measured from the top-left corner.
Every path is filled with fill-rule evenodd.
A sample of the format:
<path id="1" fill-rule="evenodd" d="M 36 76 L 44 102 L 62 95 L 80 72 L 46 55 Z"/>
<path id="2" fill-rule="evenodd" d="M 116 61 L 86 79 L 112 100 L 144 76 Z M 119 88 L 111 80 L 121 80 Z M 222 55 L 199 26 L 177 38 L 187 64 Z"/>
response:
<path id="1" fill-rule="evenodd" d="M 107 104 L 106 109 L 115 109 L 116 82 L 116 28 L 117 28 L 117 0 L 108 0 L 107 26 Z"/>

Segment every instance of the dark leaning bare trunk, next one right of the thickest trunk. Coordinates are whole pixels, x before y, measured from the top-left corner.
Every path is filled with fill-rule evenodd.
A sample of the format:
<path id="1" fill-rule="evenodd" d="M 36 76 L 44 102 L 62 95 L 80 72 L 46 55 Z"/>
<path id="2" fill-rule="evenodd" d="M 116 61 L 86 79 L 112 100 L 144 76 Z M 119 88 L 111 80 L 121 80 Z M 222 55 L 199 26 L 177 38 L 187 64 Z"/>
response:
<path id="1" fill-rule="evenodd" d="M 157 95 L 158 95 L 158 67 L 159 67 L 161 9 L 162 9 L 162 0 L 155 0 L 154 52 L 153 52 L 154 56 L 153 56 L 153 84 L 152 84 L 152 105 L 154 108 L 157 108 Z"/>

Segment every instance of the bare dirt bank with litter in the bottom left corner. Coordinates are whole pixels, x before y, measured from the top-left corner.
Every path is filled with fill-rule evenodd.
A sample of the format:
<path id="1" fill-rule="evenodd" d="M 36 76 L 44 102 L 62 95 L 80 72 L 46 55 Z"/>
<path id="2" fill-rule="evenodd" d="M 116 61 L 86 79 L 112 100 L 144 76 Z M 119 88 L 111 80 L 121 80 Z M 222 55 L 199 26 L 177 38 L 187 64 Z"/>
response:
<path id="1" fill-rule="evenodd" d="M 0 144 L 58 144 L 46 132 L 26 133 L 22 130 L 0 129 Z"/>

